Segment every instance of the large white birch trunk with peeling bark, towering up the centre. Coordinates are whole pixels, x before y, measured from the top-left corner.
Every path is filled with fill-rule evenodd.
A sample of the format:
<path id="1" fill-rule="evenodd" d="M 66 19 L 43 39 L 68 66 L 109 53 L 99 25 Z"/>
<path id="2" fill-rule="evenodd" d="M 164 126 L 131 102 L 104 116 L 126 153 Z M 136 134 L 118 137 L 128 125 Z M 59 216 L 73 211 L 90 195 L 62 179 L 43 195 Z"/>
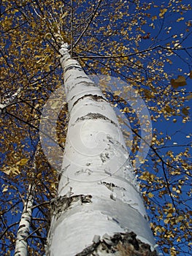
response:
<path id="1" fill-rule="evenodd" d="M 156 255 L 115 112 L 67 44 L 60 53 L 69 127 L 47 255 Z"/>

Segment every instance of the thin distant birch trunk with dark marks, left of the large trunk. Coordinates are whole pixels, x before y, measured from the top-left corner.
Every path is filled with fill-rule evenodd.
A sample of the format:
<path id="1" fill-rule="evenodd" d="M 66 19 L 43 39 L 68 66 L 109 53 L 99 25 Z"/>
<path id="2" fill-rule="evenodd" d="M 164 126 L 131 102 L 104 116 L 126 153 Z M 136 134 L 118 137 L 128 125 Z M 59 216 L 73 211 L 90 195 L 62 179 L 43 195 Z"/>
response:
<path id="1" fill-rule="evenodd" d="M 28 244 L 26 238 L 29 235 L 32 206 L 34 204 L 33 187 L 28 186 L 28 194 L 26 201 L 23 203 L 23 212 L 20 217 L 20 223 L 18 226 L 18 234 L 15 242 L 15 256 L 26 256 L 28 255 Z"/>

